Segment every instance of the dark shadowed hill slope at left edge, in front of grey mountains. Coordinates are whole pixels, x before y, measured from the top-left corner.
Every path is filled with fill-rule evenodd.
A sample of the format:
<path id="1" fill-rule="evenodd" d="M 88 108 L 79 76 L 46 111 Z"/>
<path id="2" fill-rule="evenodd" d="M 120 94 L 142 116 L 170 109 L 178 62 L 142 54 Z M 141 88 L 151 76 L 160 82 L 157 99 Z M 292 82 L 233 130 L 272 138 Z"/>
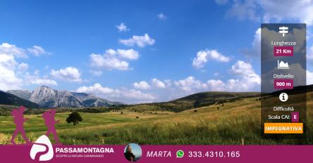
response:
<path id="1" fill-rule="evenodd" d="M 29 100 L 25 100 L 23 98 L 19 98 L 11 93 L 6 93 L 4 91 L 0 91 L 0 104 L 1 105 L 23 105 L 27 108 L 38 108 L 39 105 L 37 103 L 32 103 Z"/>

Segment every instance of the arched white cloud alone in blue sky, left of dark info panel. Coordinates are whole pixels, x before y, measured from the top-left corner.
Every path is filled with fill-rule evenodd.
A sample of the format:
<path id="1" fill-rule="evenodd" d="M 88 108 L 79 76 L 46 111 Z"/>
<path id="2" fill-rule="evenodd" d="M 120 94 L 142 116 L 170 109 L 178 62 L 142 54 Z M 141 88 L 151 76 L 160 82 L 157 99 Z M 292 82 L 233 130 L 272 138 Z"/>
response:
<path id="1" fill-rule="evenodd" d="M 197 57 L 193 58 L 192 66 L 196 68 L 202 68 L 207 63 L 208 60 L 216 60 L 222 63 L 228 63 L 231 58 L 223 56 L 216 50 L 204 50 L 198 51 Z"/>

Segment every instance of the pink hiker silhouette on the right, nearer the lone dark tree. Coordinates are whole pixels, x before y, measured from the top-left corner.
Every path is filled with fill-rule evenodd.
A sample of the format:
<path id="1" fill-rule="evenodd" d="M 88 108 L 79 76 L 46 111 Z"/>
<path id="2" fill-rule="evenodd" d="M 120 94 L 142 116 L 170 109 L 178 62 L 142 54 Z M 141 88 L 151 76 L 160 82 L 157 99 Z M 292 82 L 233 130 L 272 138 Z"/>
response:
<path id="1" fill-rule="evenodd" d="M 46 136 L 49 136 L 50 133 L 54 135 L 54 141 L 56 141 L 57 144 L 61 144 L 59 142 L 59 138 L 56 135 L 56 128 L 55 124 L 59 123 L 59 120 L 56 121 L 54 119 L 54 116 L 56 115 L 56 110 L 48 110 L 47 112 L 44 112 L 42 114 L 42 117 L 44 118 L 44 124 L 47 126 L 47 133 Z"/>

